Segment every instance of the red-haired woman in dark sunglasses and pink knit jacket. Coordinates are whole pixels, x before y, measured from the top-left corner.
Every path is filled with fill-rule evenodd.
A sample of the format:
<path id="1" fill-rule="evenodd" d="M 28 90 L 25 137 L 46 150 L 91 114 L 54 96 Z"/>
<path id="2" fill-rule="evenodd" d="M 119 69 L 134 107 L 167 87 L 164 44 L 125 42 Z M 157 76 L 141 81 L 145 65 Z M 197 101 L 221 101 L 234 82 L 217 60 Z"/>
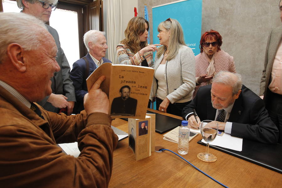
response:
<path id="1" fill-rule="evenodd" d="M 201 53 L 196 55 L 196 88 L 212 84 L 212 78 L 221 70 L 236 73 L 233 57 L 220 49 L 222 36 L 214 30 L 205 32 L 200 40 Z"/>

